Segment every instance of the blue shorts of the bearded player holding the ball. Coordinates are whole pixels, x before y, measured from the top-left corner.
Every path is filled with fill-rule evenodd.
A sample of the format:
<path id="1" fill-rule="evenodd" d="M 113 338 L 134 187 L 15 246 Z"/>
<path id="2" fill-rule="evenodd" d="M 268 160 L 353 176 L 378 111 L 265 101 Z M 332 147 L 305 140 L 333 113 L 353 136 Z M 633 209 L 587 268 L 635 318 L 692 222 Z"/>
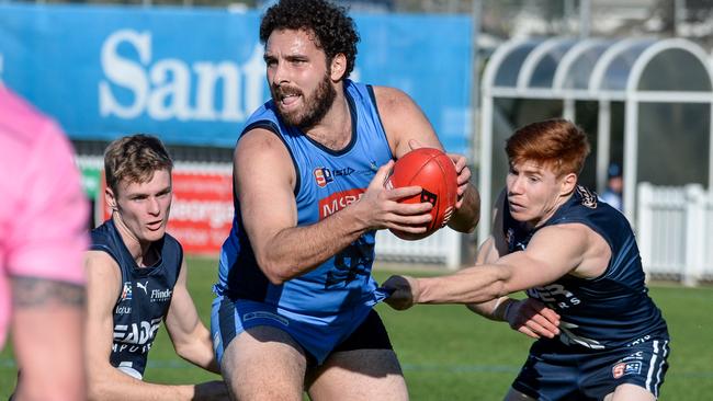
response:
<path id="1" fill-rule="evenodd" d="M 370 313 L 376 316 L 372 311 L 372 306 L 364 305 L 340 314 L 308 316 L 287 311 L 274 305 L 247 299 L 231 300 L 225 296 L 217 296 L 213 300 L 211 313 L 213 347 L 220 363 L 225 348 L 238 334 L 258 325 L 269 325 L 290 334 L 307 353 L 308 359 L 320 365 L 332 351 L 338 350 L 340 344 L 350 339 L 362 323 L 369 321 L 370 326 L 376 328 L 377 335 L 374 339 L 381 340 L 372 344 L 373 346 L 363 347 L 391 350 L 391 342 L 378 316 L 376 316 L 378 321 L 374 322 L 373 319 L 367 319 Z M 382 329 L 378 329 L 380 324 Z M 384 336 L 386 343 L 383 341 Z"/>

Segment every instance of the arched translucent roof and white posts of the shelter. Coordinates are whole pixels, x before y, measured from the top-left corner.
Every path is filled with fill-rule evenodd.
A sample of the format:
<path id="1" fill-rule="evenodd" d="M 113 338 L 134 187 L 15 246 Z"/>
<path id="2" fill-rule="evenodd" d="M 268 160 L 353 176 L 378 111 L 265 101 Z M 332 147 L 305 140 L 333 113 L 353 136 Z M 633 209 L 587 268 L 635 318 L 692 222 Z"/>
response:
<path id="1" fill-rule="evenodd" d="M 713 106 L 711 58 L 703 48 L 682 38 L 604 39 L 553 37 L 517 39 L 496 49 L 482 80 L 480 191 L 483 218 L 489 221 L 493 198 L 494 99 L 562 100 L 563 116 L 575 121 L 576 101 L 598 101 L 598 186 L 609 165 L 610 102 L 625 103 L 624 182 L 635 188 L 637 148 L 641 136 L 640 103 L 699 103 Z M 706 107 L 709 165 L 708 185 L 713 187 L 713 128 Z M 643 111 L 643 108 L 642 108 Z M 634 217 L 635 191 L 624 192 L 624 210 Z M 487 236 L 480 226 L 479 238 Z"/>

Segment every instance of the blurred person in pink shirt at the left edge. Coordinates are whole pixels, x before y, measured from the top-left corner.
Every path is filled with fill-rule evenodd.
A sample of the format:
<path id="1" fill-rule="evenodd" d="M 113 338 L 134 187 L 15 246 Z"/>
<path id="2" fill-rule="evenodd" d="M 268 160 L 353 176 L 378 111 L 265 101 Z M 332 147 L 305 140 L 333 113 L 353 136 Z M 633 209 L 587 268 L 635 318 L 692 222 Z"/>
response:
<path id="1" fill-rule="evenodd" d="M 64 335 L 77 333 L 81 340 L 88 216 L 61 129 L 0 83 L 0 350 L 12 324 L 23 382 L 18 397 L 38 394 L 33 386 L 46 379 L 42 370 L 54 368 L 52 359 L 65 356 L 59 350 L 75 352 L 73 340 L 67 346 Z M 47 340 L 50 336 L 58 341 Z M 55 350 L 37 357 L 49 346 Z M 80 360 L 75 360 L 77 356 Z M 68 357 L 66 368 L 82 367 L 80 346 Z M 83 387 L 83 379 L 79 382 Z M 67 391 L 57 398 L 55 388 L 52 399 L 83 394 L 81 388 Z"/>

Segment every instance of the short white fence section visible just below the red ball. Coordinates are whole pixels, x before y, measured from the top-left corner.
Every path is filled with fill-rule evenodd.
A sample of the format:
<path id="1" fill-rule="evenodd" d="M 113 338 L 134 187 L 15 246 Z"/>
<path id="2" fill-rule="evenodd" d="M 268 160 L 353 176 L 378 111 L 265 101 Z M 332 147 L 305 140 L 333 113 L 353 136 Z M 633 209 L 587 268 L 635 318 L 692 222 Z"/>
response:
<path id="1" fill-rule="evenodd" d="M 435 263 L 450 270 L 461 267 L 463 234 L 442 228 L 418 241 L 405 241 L 388 230 L 376 233 L 376 259 L 387 262 Z"/>

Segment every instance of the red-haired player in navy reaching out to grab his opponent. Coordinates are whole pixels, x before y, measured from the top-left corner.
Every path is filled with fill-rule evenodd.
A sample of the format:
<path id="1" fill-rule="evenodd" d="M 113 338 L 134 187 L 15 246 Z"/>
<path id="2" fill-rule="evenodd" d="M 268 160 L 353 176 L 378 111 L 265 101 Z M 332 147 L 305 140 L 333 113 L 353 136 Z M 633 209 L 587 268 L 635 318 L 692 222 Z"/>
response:
<path id="1" fill-rule="evenodd" d="M 466 303 L 539 336 L 506 400 L 656 399 L 668 330 L 648 297 L 629 221 L 577 184 L 586 134 L 565 119 L 533 123 L 508 139 L 506 152 L 506 191 L 476 266 L 433 278 L 393 276 L 384 283 L 395 290 L 386 302 Z M 507 297 L 520 290 L 529 300 Z"/>

